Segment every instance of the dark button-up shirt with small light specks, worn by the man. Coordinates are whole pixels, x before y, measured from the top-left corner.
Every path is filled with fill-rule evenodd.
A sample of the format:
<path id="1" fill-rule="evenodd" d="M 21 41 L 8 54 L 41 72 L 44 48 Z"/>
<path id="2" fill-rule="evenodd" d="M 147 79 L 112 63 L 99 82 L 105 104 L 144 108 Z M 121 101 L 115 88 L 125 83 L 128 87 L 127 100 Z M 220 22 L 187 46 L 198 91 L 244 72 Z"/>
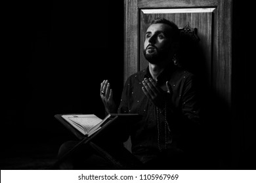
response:
<path id="1" fill-rule="evenodd" d="M 157 84 L 172 95 L 163 107 L 156 107 L 142 91 L 142 80 L 152 78 L 148 67 L 131 75 L 123 88 L 119 113 L 137 113 L 142 120 L 131 122 L 132 152 L 143 163 L 154 159 L 165 149 L 182 148 L 187 130 L 199 122 L 199 107 L 194 87 L 194 75 L 179 67 L 167 67 L 157 78 Z M 184 140 L 185 139 L 185 140 Z"/>

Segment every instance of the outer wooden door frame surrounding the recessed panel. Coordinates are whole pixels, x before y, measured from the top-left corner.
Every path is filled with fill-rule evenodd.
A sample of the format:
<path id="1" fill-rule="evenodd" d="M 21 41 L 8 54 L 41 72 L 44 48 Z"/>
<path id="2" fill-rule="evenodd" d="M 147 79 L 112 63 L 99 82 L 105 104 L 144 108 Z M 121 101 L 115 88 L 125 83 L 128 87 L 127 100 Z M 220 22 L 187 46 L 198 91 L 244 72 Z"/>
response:
<path id="1" fill-rule="evenodd" d="M 139 71 L 139 18 L 142 8 L 215 8 L 211 90 L 231 108 L 232 0 L 125 0 L 124 80 Z"/>

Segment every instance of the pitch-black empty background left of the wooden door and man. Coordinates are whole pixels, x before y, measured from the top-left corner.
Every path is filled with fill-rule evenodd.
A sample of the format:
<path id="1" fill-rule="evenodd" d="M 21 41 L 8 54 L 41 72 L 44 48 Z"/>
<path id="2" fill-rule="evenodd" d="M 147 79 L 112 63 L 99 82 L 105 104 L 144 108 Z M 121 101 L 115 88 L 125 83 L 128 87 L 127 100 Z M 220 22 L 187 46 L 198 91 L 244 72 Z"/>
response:
<path id="1" fill-rule="evenodd" d="M 60 146 L 75 139 L 54 114 L 104 117 L 100 100 L 104 79 L 110 80 L 119 101 L 123 86 L 122 1 L 17 1 L 5 6 L 3 19 L 4 153 L 16 151 L 12 156 L 18 157 L 22 156 L 20 150 L 29 152 L 30 145 Z M 54 147 L 54 152 L 57 154 L 58 148 Z"/>

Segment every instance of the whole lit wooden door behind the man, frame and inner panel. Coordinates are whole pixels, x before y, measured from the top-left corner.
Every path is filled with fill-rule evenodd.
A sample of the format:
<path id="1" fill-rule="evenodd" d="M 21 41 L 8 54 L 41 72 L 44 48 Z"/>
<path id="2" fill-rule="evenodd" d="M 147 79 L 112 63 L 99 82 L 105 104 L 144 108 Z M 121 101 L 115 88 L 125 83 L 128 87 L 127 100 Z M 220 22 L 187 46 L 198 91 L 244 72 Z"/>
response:
<path id="1" fill-rule="evenodd" d="M 205 57 L 203 67 L 210 75 L 212 91 L 231 107 L 232 0 L 125 0 L 124 79 L 146 66 L 140 54 L 142 34 L 152 16 L 159 15 L 159 12 L 147 13 L 146 10 L 160 9 L 176 11 L 160 14 L 173 20 L 179 27 L 188 23 L 190 27 L 198 29 Z M 181 12 L 184 9 L 187 12 Z"/>

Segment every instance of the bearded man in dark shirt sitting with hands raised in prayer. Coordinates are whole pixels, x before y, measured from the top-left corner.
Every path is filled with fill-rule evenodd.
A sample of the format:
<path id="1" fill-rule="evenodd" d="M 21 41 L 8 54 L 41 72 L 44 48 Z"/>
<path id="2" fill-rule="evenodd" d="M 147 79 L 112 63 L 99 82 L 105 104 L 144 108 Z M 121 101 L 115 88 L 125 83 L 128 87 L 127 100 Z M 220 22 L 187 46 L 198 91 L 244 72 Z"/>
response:
<path id="1" fill-rule="evenodd" d="M 148 67 L 127 79 L 119 108 L 113 100 L 110 82 L 104 80 L 100 85 L 107 113 L 142 116 L 139 122 L 128 124 L 127 134 L 131 135 L 133 154 L 145 168 L 188 168 L 188 155 L 195 152 L 196 139 L 192 139 L 198 129 L 199 107 L 194 75 L 175 64 L 178 47 L 177 25 L 156 18 L 145 35 Z"/>

